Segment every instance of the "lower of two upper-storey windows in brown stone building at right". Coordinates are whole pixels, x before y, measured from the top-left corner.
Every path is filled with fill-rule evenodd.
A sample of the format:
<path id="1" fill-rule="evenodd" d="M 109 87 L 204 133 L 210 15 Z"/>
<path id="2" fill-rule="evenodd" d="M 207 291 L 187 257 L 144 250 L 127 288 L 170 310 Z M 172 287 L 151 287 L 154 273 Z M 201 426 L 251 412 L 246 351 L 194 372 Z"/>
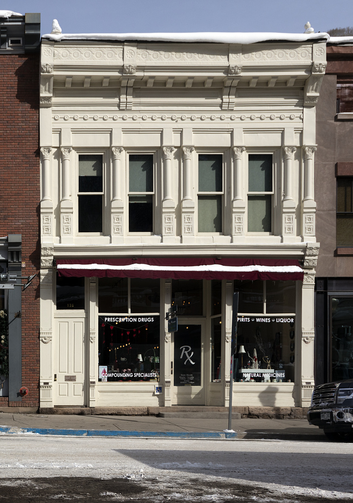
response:
<path id="1" fill-rule="evenodd" d="M 337 178 L 336 245 L 353 246 L 353 177 Z"/>

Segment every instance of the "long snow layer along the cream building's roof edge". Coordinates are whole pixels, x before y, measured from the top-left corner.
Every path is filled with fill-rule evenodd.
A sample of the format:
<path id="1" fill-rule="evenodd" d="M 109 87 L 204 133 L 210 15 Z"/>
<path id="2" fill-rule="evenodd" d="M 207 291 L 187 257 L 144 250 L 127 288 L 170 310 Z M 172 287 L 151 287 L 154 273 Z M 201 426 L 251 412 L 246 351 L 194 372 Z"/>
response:
<path id="1" fill-rule="evenodd" d="M 148 42 L 213 42 L 219 44 L 255 44 L 280 40 L 286 42 L 306 42 L 324 39 L 328 33 L 48 33 L 42 38 L 60 42 L 61 40 L 140 40 Z M 344 37 L 342 37 L 344 38 Z M 346 37 L 351 38 L 351 37 Z"/>

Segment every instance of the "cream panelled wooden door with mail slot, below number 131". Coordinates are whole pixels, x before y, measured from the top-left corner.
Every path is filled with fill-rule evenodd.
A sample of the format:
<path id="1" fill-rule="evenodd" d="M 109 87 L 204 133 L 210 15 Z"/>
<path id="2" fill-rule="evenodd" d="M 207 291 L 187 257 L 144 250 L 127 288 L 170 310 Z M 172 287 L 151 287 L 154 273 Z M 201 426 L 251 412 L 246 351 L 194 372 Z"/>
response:
<path id="1" fill-rule="evenodd" d="M 53 383 L 54 406 L 85 405 L 84 327 L 84 318 L 56 320 Z"/>

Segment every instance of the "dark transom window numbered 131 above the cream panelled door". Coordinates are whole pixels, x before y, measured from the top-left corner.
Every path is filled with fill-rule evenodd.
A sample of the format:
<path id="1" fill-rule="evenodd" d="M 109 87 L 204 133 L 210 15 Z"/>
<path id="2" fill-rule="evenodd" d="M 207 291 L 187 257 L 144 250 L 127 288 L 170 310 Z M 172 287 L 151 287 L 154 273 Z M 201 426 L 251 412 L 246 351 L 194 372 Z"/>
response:
<path id="1" fill-rule="evenodd" d="M 84 278 L 56 274 L 56 309 L 84 309 Z"/>

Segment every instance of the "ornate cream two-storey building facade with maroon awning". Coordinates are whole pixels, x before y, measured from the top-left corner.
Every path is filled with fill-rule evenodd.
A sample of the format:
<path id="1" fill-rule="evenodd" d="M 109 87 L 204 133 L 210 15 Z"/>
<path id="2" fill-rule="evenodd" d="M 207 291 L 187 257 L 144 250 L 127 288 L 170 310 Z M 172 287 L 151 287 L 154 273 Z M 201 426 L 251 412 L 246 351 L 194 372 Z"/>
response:
<path id="1" fill-rule="evenodd" d="M 301 37 L 42 39 L 41 407 L 227 405 L 235 290 L 233 404 L 308 405 L 326 48 Z"/>

